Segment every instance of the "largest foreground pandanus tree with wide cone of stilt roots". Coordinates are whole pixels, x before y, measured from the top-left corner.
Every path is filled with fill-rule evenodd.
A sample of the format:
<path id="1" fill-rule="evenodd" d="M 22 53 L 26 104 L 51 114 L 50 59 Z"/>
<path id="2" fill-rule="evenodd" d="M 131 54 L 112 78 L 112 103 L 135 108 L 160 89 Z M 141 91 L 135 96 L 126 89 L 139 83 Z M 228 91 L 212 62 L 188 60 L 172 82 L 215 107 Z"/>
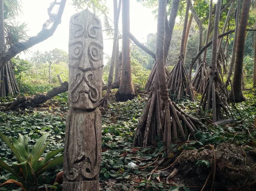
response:
<path id="1" fill-rule="evenodd" d="M 171 143 L 177 142 L 180 137 L 185 141 L 186 132 L 194 133 L 205 128 L 198 119 L 186 114 L 169 98 L 167 79 L 166 75 L 163 74 L 165 74 L 166 39 L 171 39 L 171 37 L 166 37 L 166 35 L 169 35 L 166 31 L 173 28 L 170 27 L 169 22 L 166 20 L 166 3 L 166 0 L 159 1 L 157 18 L 157 70 L 148 101 L 134 137 L 135 146 L 152 145 L 157 140 L 157 137 L 158 140 L 163 141 L 165 146 L 168 146 Z M 176 11 L 177 14 L 178 3 L 179 0 L 173 1 L 171 15 L 175 13 L 173 11 Z M 170 17 L 170 19 L 174 18 Z M 167 30 L 166 27 L 168 28 Z M 185 131 L 185 128 L 188 131 Z M 167 151 L 169 151 L 169 147 Z"/>

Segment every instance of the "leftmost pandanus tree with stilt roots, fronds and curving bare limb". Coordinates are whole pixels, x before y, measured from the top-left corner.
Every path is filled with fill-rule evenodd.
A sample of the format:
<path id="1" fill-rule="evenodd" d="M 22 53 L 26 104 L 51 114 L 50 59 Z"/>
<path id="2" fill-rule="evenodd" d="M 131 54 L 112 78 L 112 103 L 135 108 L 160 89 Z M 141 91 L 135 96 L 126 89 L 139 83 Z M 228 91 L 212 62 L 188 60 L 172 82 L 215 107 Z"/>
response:
<path id="1" fill-rule="evenodd" d="M 49 19 L 43 24 L 43 29 L 35 37 L 24 39 L 26 35 L 23 30 L 20 30 L 24 29 L 24 25 L 9 26 L 8 23 L 6 23 L 6 20 L 13 19 L 17 15 L 17 11 L 15 12 L 15 10 L 18 10 L 17 1 L 0 0 L 0 96 L 13 95 L 19 92 L 10 60 L 20 52 L 26 51 L 28 48 L 53 35 L 61 21 L 65 4 L 66 0 L 59 2 L 55 0 L 51 3 L 48 8 Z M 15 6 L 10 8 L 10 5 Z M 55 6 L 59 6 L 57 14 L 52 13 L 52 9 Z M 50 25 L 51 27 L 49 27 Z M 20 31 L 23 32 L 20 33 Z"/>

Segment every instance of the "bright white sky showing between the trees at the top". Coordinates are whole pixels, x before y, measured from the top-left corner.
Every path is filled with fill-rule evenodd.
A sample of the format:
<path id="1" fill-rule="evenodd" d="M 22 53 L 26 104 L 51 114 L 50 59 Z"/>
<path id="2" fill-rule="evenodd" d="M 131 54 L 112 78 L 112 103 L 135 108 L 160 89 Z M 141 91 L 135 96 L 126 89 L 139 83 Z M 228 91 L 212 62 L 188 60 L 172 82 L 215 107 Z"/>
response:
<path id="1" fill-rule="evenodd" d="M 27 24 L 29 30 L 27 34 L 29 36 L 35 36 L 41 31 L 43 23 L 49 18 L 47 8 L 52 1 L 53 0 L 22 0 L 23 15 L 21 15 L 17 21 L 21 23 L 25 22 Z M 32 53 L 37 50 L 44 53 L 44 51 L 50 51 L 54 48 L 63 49 L 68 52 L 69 20 L 73 14 L 77 13 L 75 7 L 72 6 L 71 3 L 72 0 L 67 0 L 61 24 L 58 26 L 52 37 L 33 46 L 30 49 Z M 108 17 L 113 20 L 113 0 L 107 0 L 107 6 L 109 8 Z M 140 42 L 145 42 L 149 33 L 156 33 L 157 31 L 157 21 L 151 11 L 151 9 L 143 7 L 141 3 L 137 3 L 137 0 L 130 0 L 130 31 L 138 40 L 140 40 Z M 103 26 L 103 19 L 101 20 Z M 121 14 L 119 17 L 119 21 L 120 20 L 122 20 Z M 122 29 L 121 23 L 119 24 L 119 30 L 120 29 Z M 104 39 L 108 39 L 104 33 L 105 32 L 103 32 Z M 120 43 L 121 41 L 122 40 L 119 40 Z M 112 46 L 113 40 L 104 40 L 104 52 L 109 56 L 111 56 Z M 21 57 L 30 57 L 32 53 L 21 55 Z"/>

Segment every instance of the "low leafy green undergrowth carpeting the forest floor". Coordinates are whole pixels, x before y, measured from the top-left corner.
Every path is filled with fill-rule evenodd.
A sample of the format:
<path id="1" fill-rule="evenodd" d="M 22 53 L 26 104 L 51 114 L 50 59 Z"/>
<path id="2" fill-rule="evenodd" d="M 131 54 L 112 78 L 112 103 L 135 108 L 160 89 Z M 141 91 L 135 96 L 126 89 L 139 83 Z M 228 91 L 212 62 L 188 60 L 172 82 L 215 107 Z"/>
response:
<path id="1" fill-rule="evenodd" d="M 255 147 L 255 117 L 256 97 L 255 92 L 244 92 L 247 101 L 236 104 L 241 117 L 233 109 L 235 123 L 227 125 L 209 125 L 209 131 L 196 132 L 191 135 L 187 143 L 170 145 L 171 154 L 167 155 L 162 143 L 148 148 L 134 148 L 133 138 L 138 120 L 143 113 L 146 96 L 142 94 L 134 100 L 125 103 L 113 103 L 108 110 L 102 111 L 102 163 L 100 170 L 100 181 L 102 191 L 111 190 L 174 190 L 180 189 L 189 191 L 185 185 L 164 183 L 166 179 L 161 171 L 175 162 L 175 159 L 184 149 L 199 149 L 205 145 L 220 145 L 222 143 L 234 143 L 236 145 L 249 145 Z M 1 98 L 0 102 L 5 103 L 15 98 Z M 198 107 L 198 100 L 191 102 L 181 100 L 177 105 L 191 115 L 195 115 Z M 67 93 L 60 94 L 44 104 L 42 108 L 34 108 L 25 111 L 0 111 L 0 131 L 7 137 L 18 137 L 23 134 L 28 137 L 29 147 L 41 135 L 49 132 L 50 141 L 45 154 L 49 151 L 64 147 L 65 120 L 69 106 L 67 105 Z M 204 117 L 207 117 L 206 116 Z M 210 116 L 208 116 L 210 117 Z M 0 140 L 0 159 L 12 164 L 15 160 L 7 145 Z M 131 168 L 131 162 L 136 168 Z M 128 165 L 129 164 L 129 165 Z M 171 169 L 171 168 L 170 168 Z M 58 191 L 61 188 L 52 186 L 55 175 L 62 171 L 63 167 L 51 169 L 41 176 L 38 183 L 47 185 L 49 190 Z M 1 171 L 0 183 L 15 178 L 6 171 Z M 113 181 L 114 184 L 109 184 Z M 165 181 L 166 182 L 166 181 Z M 19 188 L 13 185 L 0 188 L 4 191 L 18 191 Z"/>

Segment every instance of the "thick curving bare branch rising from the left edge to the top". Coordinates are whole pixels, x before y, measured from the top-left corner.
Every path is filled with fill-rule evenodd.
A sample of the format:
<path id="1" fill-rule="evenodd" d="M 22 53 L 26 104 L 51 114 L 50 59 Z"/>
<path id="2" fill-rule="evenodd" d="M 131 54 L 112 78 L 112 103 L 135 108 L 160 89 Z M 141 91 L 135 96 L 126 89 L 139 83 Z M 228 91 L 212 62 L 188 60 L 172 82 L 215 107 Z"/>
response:
<path id="1" fill-rule="evenodd" d="M 25 42 L 14 44 L 8 49 L 8 51 L 3 52 L 3 54 L 0 55 L 0 68 L 2 68 L 7 61 L 11 60 L 20 52 L 34 46 L 35 44 L 41 43 L 42 41 L 46 40 L 47 38 L 53 35 L 59 23 L 61 22 L 61 16 L 63 14 L 66 1 L 67 0 L 61 0 L 60 2 L 56 2 L 55 0 L 50 5 L 48 9 L 50 12 L 54 5 L 59 5 L 58 13 L 56 15 L 51 13 L 49 14 L 51 15 L 50 18 L 46 21 L 46 23 L 44 23 L 43 29 L 36 36 L 30 37 Z M 47 29 L 47 26 L 49 26 L 49 24 L 52 22 L 53 22 L 52 27 L 50 29 Z"/>

